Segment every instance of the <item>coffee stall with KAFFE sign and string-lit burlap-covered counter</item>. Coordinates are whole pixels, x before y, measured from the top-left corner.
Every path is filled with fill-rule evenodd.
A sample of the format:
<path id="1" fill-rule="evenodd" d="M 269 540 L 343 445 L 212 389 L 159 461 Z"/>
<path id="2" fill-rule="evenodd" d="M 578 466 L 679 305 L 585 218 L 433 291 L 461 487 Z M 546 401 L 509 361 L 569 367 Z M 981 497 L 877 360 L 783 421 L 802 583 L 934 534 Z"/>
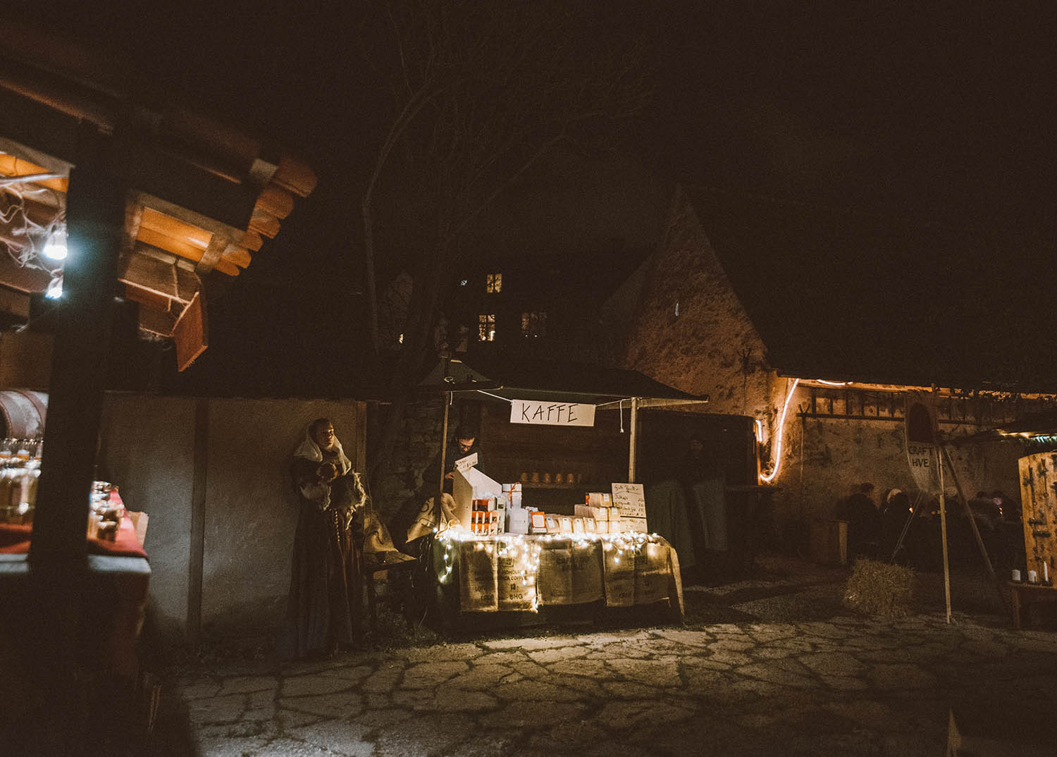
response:
<path id="1" fill-rule="evenodd" d="M 614 374 L 627 375 L 617 375 L 622 384 L 613 382 Z M 480 627 L 597 618 L 629 608 L 682 620 L 679 555 L 667 539 L 650 532 L 643 486 L 635 483 L 637 413 L 644 406 L 691 405 L 706 398 L 632 371 L 607 372 L 611 385 L 606 388 L 580 375 L 564 390 L 517 387 L 445 361 L 424 382 L 427 390 L 443 391 L 445 408 L 457 393 L 480 395 L 500 408 L 497 413 L 508 403 L 512 427 L 539 426 L 565 439 L 554 450 L 555 473 L 524 470 L 519 480 L 505 483 L 479 470 L 476 456 L 459 460 L 452 494 L 423 507 L 420 524 L 434 532 L 429 557 L 437 597 L 450 623 Z M 618 390 L 629 386 L 642 394 Z M 590 435 L 596 413 L 606 412 L 611 416 L 606 425 L 622 429 L 628 413 L 620 437 L 627 468 L 586 462 L 582 455 L 562 459 L 565 447 L 570 458 L 592 448 L 562 432 L 575 428 Z M 446 427 L 445 419 L 445 433 Z M 496 433 L 514 436 L 509 429 Z M 594 472 L 594 478 L 583 472 Z M 598 476 L 610 477 L 605 487 Z"/>

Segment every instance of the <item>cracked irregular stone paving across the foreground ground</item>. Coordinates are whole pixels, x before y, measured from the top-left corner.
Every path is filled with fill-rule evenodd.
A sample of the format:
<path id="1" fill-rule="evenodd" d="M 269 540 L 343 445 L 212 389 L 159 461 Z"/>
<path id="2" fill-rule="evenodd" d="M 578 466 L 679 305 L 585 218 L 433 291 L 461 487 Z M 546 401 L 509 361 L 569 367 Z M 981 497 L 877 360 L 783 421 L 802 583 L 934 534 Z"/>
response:
<path id="1" fill-rule="evenodd" d="M 177 682 L 198 754 L 942 755 L 952 704 L 1052 713 L 1057 634 L 841 616 L 438 644 Z"/>

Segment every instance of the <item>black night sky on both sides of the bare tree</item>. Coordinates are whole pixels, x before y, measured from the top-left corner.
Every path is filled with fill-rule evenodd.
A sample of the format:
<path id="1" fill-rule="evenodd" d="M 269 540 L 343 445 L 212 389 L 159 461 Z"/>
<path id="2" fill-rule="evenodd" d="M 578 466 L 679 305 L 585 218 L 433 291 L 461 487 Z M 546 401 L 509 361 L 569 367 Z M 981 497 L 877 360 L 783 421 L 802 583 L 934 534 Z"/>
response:
<path id="1" fill-rule="evenodd" d="M 55 22 L 288 145 L 320 178 L 214 307 L 216 349 L 194 370 L 221 352 L 248 352 L 249 373 L 280 354 L 310 363 L 318 343 L 294 335 L 318 331 L 354 352 L 342 327 L 363 312 L 350 211 L 384 100 L 351 54 L 351 16 L 344 3 L 157 5 L 92 4 Z M 917 5 L 651 3 L 653 98 L 620 153 L 558 156 L 482 233 L 541 251 L 610 229 L 635 246 L 659 232 L 679 181 L 999 240 L 966 253 L 972 276 L 1043 264 L 1057 233 L 1053 12 Z M 944 289 L 961 285 L 953 269 Z"/>

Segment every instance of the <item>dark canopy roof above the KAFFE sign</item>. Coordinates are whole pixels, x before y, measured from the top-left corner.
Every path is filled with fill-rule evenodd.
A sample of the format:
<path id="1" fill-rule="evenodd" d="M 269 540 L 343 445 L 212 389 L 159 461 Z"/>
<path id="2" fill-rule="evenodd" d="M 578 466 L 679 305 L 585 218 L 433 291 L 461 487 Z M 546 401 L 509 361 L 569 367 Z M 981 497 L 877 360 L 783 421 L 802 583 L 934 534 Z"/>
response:
<path id="1" fill-rule="evenodd" d="M 471 363 L 443 359 L 419 385 L 422 391 L 481 391 L 501 400 L 552 400 L 605 405 L 639 398 L 639 407 L 693 405 L 707 395 L 688 394 L 638 371 L 525 359 L 475 357 Z"/>

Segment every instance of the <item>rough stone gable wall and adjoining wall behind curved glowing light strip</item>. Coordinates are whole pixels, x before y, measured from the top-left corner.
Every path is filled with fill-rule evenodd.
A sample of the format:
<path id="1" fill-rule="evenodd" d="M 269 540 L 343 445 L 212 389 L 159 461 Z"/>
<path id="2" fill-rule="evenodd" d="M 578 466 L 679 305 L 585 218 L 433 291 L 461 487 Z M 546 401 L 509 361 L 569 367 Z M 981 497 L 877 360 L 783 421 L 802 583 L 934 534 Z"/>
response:
<path id="1" fill-rule="evenodd" d="M 676 310 L 678 306 L 678 310 Z M 767 365 L 766 347 L 741 304 L 691 203 L 676 189 L 662 243 L 605 308 L 611 324 L 626 325 L 624 364 L 684 391 L 708 394 L 706 411 L 748 416 L 760 422 L 759 455 L 773 467 L 778 422 L 792 378 Z M 812 377 L 812 376 L 809 376 Z M 783 429 L 781 466 L 773 481 L 775 516 L 833 517 L 837 501 L 863 481 L 880 497 L 910 490 L 903 424 L 877 420 L 809 420 L 797 408 L 798 389 Z M 970 433 L 978 426 L 945 431 Z M 1016 498 L 1020 448 L 976 444 L 956 451 L 967 496 L 1000 488 Z M 953 484 L 948 486 L 953 492 Z"/>

